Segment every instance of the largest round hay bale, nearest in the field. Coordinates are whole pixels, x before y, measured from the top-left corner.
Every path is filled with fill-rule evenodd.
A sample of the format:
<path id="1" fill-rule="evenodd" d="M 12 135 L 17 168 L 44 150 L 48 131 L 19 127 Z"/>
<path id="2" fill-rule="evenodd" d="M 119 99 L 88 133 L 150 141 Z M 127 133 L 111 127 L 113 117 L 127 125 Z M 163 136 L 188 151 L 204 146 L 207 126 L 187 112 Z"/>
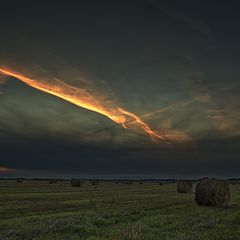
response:
<path id="1" fill-rule="evenodd" d="M 203 206 L 228 206 L 230 190 L 227 182 L 212 178 L 201 180 L 196 186 L 195 201 Z"/>

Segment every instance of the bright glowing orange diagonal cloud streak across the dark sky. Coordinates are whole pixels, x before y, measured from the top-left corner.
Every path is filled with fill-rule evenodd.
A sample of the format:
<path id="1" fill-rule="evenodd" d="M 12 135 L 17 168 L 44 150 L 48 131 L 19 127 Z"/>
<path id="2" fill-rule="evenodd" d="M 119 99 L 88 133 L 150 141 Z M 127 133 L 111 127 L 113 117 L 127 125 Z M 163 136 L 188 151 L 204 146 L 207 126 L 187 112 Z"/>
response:
<path id="1" fill-rule="evenodd" d="M 54 79 L 54 83 L 46 83 L 37 78 L 30 78 L 8 69 L 0 68 L 0 73 L 14 77 L 39 91 L 64 99 L 65 101 L 90 111 L 100 113 L 115 123 L 120 124 L 124 128 L 128 128 L 126 123 L 131 122 L 136 127 L 146 132 L 151 138 L 164 141 L 164 137 L 162 137 L 158 132 L 152 130 L 147 123 L 141 120 L 134 113 L 117 106 L 112 101 L 107 101 L 103 97 L 96 97 L 86 89 L 71 86 L 58 79 Z"/>

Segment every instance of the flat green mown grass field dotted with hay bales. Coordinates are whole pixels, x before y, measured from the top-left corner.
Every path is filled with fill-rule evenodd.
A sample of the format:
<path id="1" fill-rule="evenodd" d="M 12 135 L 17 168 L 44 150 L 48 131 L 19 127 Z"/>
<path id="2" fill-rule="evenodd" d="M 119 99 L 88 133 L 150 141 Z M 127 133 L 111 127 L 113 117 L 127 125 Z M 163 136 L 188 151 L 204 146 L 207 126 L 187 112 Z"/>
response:
<path id="1" fill-rule="evenodd" d="M 1 240 L 239 240 L 240 185 L 228 208 L 199 207 L 176 184 L 0 181 Z"/>

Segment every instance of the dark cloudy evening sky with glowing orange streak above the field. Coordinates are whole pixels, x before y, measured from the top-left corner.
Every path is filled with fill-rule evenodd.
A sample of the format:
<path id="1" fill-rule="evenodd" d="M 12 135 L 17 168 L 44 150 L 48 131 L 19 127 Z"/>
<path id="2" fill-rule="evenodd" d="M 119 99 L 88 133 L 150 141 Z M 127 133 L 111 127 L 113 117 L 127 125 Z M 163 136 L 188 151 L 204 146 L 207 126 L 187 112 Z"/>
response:
<path id="1" fill-rule="evenodd" d="M 2 4 L 0 177 L 239 177 L 239 7 Z"/>

